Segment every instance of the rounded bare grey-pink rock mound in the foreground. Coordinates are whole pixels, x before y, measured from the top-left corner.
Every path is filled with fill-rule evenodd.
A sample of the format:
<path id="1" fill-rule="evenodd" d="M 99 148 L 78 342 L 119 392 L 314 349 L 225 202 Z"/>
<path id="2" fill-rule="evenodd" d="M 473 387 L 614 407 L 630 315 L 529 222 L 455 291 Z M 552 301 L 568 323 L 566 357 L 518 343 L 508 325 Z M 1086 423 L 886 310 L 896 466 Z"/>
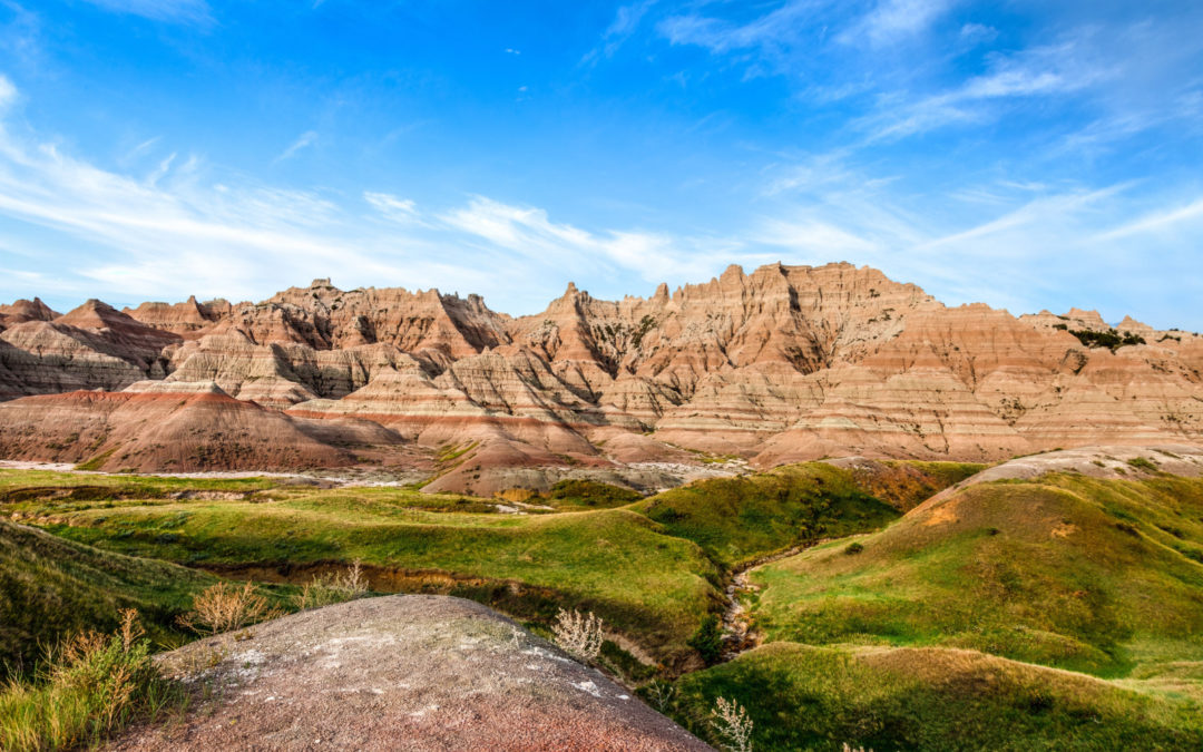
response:
<path id="1" fill-rule="evenodd" d="M 354 600 L 161 658 L 219 687 L 182 723 L 111 745 L 176 750 L 710 750 L 504 616 L 444 596 Z M 213 668 L 213 656 L 221 656 Z M 197 670 L 202 673 L 198 675 Z"/>

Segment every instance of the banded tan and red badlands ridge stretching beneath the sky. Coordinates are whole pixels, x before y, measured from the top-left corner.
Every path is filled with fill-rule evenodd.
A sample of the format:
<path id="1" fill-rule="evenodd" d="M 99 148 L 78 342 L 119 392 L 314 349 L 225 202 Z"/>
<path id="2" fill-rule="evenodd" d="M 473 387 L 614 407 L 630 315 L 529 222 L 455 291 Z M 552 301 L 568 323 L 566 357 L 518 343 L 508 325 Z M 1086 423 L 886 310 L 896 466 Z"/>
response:
<path id="1" fill-rule="evenodd" d="M 435 487 L 478 492 L 496 490 L 491 473 L 503 466 L 699 455 L 759 466 L 845 455 L 989 461 L 1203 437 L 1203 337 L 1131 319 L 1112 336 L 1097 313 L 1078 309 L 1017 318 L 948 308 L 848 264 L 733 266 L 705 284 L 621 301 L 569 284 L 544 313 L 521 318 L 476 296 L 343 291 L 321 279 L 261 303 L 190 298 L 117 312 L 89 301 L 58 315 L 18 301 L 0 307 L 0 328 L 6 457 L 113 449 L 144 457 L 135 467 L 217 467 L 214 455 L 168 449 L 178 434 L 137 455 L 114 445 L 136 430 L 113 404 L 146 380 L 202 385 L 227 410 L 254 403 L 230 413 L 238 431 L 280 431 L 296 452 L 244 452 L 241 467 L 339 464 L 365 452 L 387 464 L 383 448 L 413 456 L 416 446 L 455 458 Z M 179 397 L 135 390 L 149 402 Z M 16 398 L 29 395 L 55 396 Z M 101 415 L 107 444 L 95 444 Z M 328 420 L 360 422 L 343 442 L 306 427 Z M 206 433 L 203 420 L 192 425 Z M 230 430 L 205 443 L 231 440 Z"/>

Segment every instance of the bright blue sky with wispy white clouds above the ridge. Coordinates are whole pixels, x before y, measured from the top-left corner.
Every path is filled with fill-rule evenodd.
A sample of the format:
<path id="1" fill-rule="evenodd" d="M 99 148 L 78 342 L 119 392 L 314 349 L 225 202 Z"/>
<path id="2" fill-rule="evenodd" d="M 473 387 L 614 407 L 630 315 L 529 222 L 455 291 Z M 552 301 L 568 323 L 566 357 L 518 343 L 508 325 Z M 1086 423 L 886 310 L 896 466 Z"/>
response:
<path id="1" fill-rule="evenodd" d="M 1203 330 L 1203 4 L 0 0 L 0 301 L 849 261 Z"/>

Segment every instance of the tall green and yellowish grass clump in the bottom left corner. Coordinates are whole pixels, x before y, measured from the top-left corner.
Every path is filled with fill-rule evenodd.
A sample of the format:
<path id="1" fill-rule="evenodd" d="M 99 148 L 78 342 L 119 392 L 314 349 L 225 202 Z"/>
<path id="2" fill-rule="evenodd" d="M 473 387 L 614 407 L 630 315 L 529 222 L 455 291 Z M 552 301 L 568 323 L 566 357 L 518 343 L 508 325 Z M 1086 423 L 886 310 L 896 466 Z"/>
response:
<path id="1" fill-rule="evenodd" d="M 34 680 L 0 691 L 0 750 L 94 747 L 114 732 L 177 707 L 184 698 L 150 662 L 134 609 L 113 634 L 83 632 L 49 651 Z"/>

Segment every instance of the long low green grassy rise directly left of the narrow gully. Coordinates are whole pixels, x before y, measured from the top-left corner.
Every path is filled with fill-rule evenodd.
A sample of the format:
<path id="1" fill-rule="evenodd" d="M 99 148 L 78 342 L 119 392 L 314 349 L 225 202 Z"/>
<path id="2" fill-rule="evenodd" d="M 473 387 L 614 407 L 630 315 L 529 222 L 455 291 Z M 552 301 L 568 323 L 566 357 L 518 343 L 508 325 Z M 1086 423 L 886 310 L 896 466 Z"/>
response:
<path id="1" fill-rule="evenodd" d="M 81 504 L 48 529 L 71 540 L 239 576 L 362 561 L 403 590 L 444 590 L 526 617 L 557 605 L 598 612 L 660 657 L 681 650 L 716 598 L 719 573 L 694 544 L 627 509 L 517 516 L 438 513 L 428 497 L 356 490 L 273 499 Z M 446 584 L 446 576 L 452 578 Z M 456 582 L 462 582 L 456 587 Z M 512 598 L 532 592 L 532 599 Z"/>

